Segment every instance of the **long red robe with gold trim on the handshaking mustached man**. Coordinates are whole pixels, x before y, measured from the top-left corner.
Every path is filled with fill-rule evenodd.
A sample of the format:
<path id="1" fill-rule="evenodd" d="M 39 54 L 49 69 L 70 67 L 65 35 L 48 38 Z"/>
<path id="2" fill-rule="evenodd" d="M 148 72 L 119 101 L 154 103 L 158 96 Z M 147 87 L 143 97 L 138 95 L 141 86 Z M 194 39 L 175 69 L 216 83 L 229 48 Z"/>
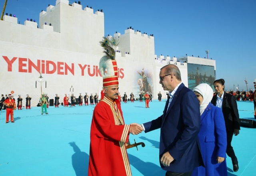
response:
<path id="1" fill-rule="evenodd" d="M 130 125 L 124 125 L 120 101 L 104 97 L 92 116 L 88 176 L 132 175 L 126 151 L 129 129 Z"/>

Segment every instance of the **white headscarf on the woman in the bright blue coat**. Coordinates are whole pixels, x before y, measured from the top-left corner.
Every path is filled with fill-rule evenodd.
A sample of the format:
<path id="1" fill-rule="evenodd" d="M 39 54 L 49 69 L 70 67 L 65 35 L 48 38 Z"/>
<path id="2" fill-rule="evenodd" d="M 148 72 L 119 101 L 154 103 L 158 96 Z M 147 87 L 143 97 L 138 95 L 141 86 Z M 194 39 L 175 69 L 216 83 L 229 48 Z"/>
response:
<path id="1" fill-rule="evenodd" d="M 206 109 L 207 105 L 212 101 L 212 97 L 213 97 L 212 87 L 210 87 L 210 85 L 206 83 L 202 83 L 196 86 L 193 89 L 193 91 L 197 91 L 203 97 L 203 101 L 200 105 L 200 114 L 202 115 L 202 113 L 204 112 L 204 109 Z"/>

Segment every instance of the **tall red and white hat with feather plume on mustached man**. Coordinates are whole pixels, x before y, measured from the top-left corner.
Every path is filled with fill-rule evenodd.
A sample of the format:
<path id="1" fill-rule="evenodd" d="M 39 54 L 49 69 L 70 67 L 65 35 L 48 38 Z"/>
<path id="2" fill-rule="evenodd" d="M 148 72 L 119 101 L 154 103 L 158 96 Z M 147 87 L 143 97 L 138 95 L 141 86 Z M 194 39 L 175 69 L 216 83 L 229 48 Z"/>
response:
<path id="1" fill-rule="evenodd" d="M 118 42 L 111 36 L 103 37 L 100 45 L 105 55 L 100 59 L 100 74 L 103 77 L 103 87 L 118 86 L 118 69 L 116 64 L 116 47 Z M 107 70 L 107 73 L 105 72 Z"/>

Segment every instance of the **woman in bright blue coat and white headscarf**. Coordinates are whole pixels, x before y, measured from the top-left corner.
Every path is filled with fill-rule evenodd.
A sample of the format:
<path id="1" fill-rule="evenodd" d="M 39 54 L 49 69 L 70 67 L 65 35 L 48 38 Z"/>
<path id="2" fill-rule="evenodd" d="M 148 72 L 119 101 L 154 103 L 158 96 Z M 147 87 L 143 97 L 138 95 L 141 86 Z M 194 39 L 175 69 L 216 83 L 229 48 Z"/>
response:
<path id="1" fill-rule="evenodd" d="M 205 83 L 193 89 L 200 104 L 201 127 L 198 133 L 204 165 L 192 176 L 227 176 L 226 127 L 222 110 L 212 105 L 212 88 Z"/>

